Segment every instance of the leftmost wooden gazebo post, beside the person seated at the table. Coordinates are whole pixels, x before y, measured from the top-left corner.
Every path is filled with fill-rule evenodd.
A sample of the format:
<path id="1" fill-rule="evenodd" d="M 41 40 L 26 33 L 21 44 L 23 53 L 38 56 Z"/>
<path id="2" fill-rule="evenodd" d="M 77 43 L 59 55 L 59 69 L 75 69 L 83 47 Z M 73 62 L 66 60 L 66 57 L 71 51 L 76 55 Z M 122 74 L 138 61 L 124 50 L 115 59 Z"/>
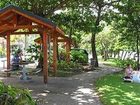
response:
<path id="1" fill-rule="evenodd" d="M 10 69 L 10 34 L 7 34 L 7 69 Z"/>

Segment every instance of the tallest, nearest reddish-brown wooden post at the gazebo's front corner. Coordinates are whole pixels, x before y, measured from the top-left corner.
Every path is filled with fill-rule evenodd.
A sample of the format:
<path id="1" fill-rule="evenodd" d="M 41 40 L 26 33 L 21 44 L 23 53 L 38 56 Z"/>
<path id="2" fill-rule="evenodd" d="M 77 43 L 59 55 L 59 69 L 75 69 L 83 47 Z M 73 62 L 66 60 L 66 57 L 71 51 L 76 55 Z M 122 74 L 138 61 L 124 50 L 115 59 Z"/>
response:
<path id="1" fill-rule="evenodd" d="M 43 32 L 43 75 L 44 83 L 48 82 L 48 47 L 47 47 L 48 36 L 46 32 Z"/>

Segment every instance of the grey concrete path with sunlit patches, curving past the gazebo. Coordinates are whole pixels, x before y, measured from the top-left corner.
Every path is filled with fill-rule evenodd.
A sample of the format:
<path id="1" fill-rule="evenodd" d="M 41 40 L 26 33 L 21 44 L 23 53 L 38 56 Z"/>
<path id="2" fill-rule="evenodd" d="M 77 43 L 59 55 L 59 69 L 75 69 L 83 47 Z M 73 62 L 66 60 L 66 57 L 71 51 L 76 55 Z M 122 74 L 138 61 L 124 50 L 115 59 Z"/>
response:
<path id="1" fill-rule="evenodd" d="M 50 77 L 47 85 L 40 76 L 32 76 L 32 81 L 21 81 L 19 77 L 0 80 L 20 88 L 28 88 L 39 105 L 102 105 L 95 91 L 94 81 L 106 74 L 120 71 L 102 66 L 99 71 L 89 71 L 73 77 Z"/>

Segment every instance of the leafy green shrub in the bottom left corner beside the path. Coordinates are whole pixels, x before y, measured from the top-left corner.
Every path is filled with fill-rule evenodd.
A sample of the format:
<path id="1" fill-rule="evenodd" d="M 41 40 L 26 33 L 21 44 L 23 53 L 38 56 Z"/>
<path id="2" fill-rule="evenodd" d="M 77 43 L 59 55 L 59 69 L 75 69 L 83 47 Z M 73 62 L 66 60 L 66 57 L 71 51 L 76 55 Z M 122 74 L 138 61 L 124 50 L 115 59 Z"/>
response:
<path id="1" fill-rule="evenodd" d="M 28 90 L 6 86 L 0 82 L 0 105 L 36 105 Z"/>

